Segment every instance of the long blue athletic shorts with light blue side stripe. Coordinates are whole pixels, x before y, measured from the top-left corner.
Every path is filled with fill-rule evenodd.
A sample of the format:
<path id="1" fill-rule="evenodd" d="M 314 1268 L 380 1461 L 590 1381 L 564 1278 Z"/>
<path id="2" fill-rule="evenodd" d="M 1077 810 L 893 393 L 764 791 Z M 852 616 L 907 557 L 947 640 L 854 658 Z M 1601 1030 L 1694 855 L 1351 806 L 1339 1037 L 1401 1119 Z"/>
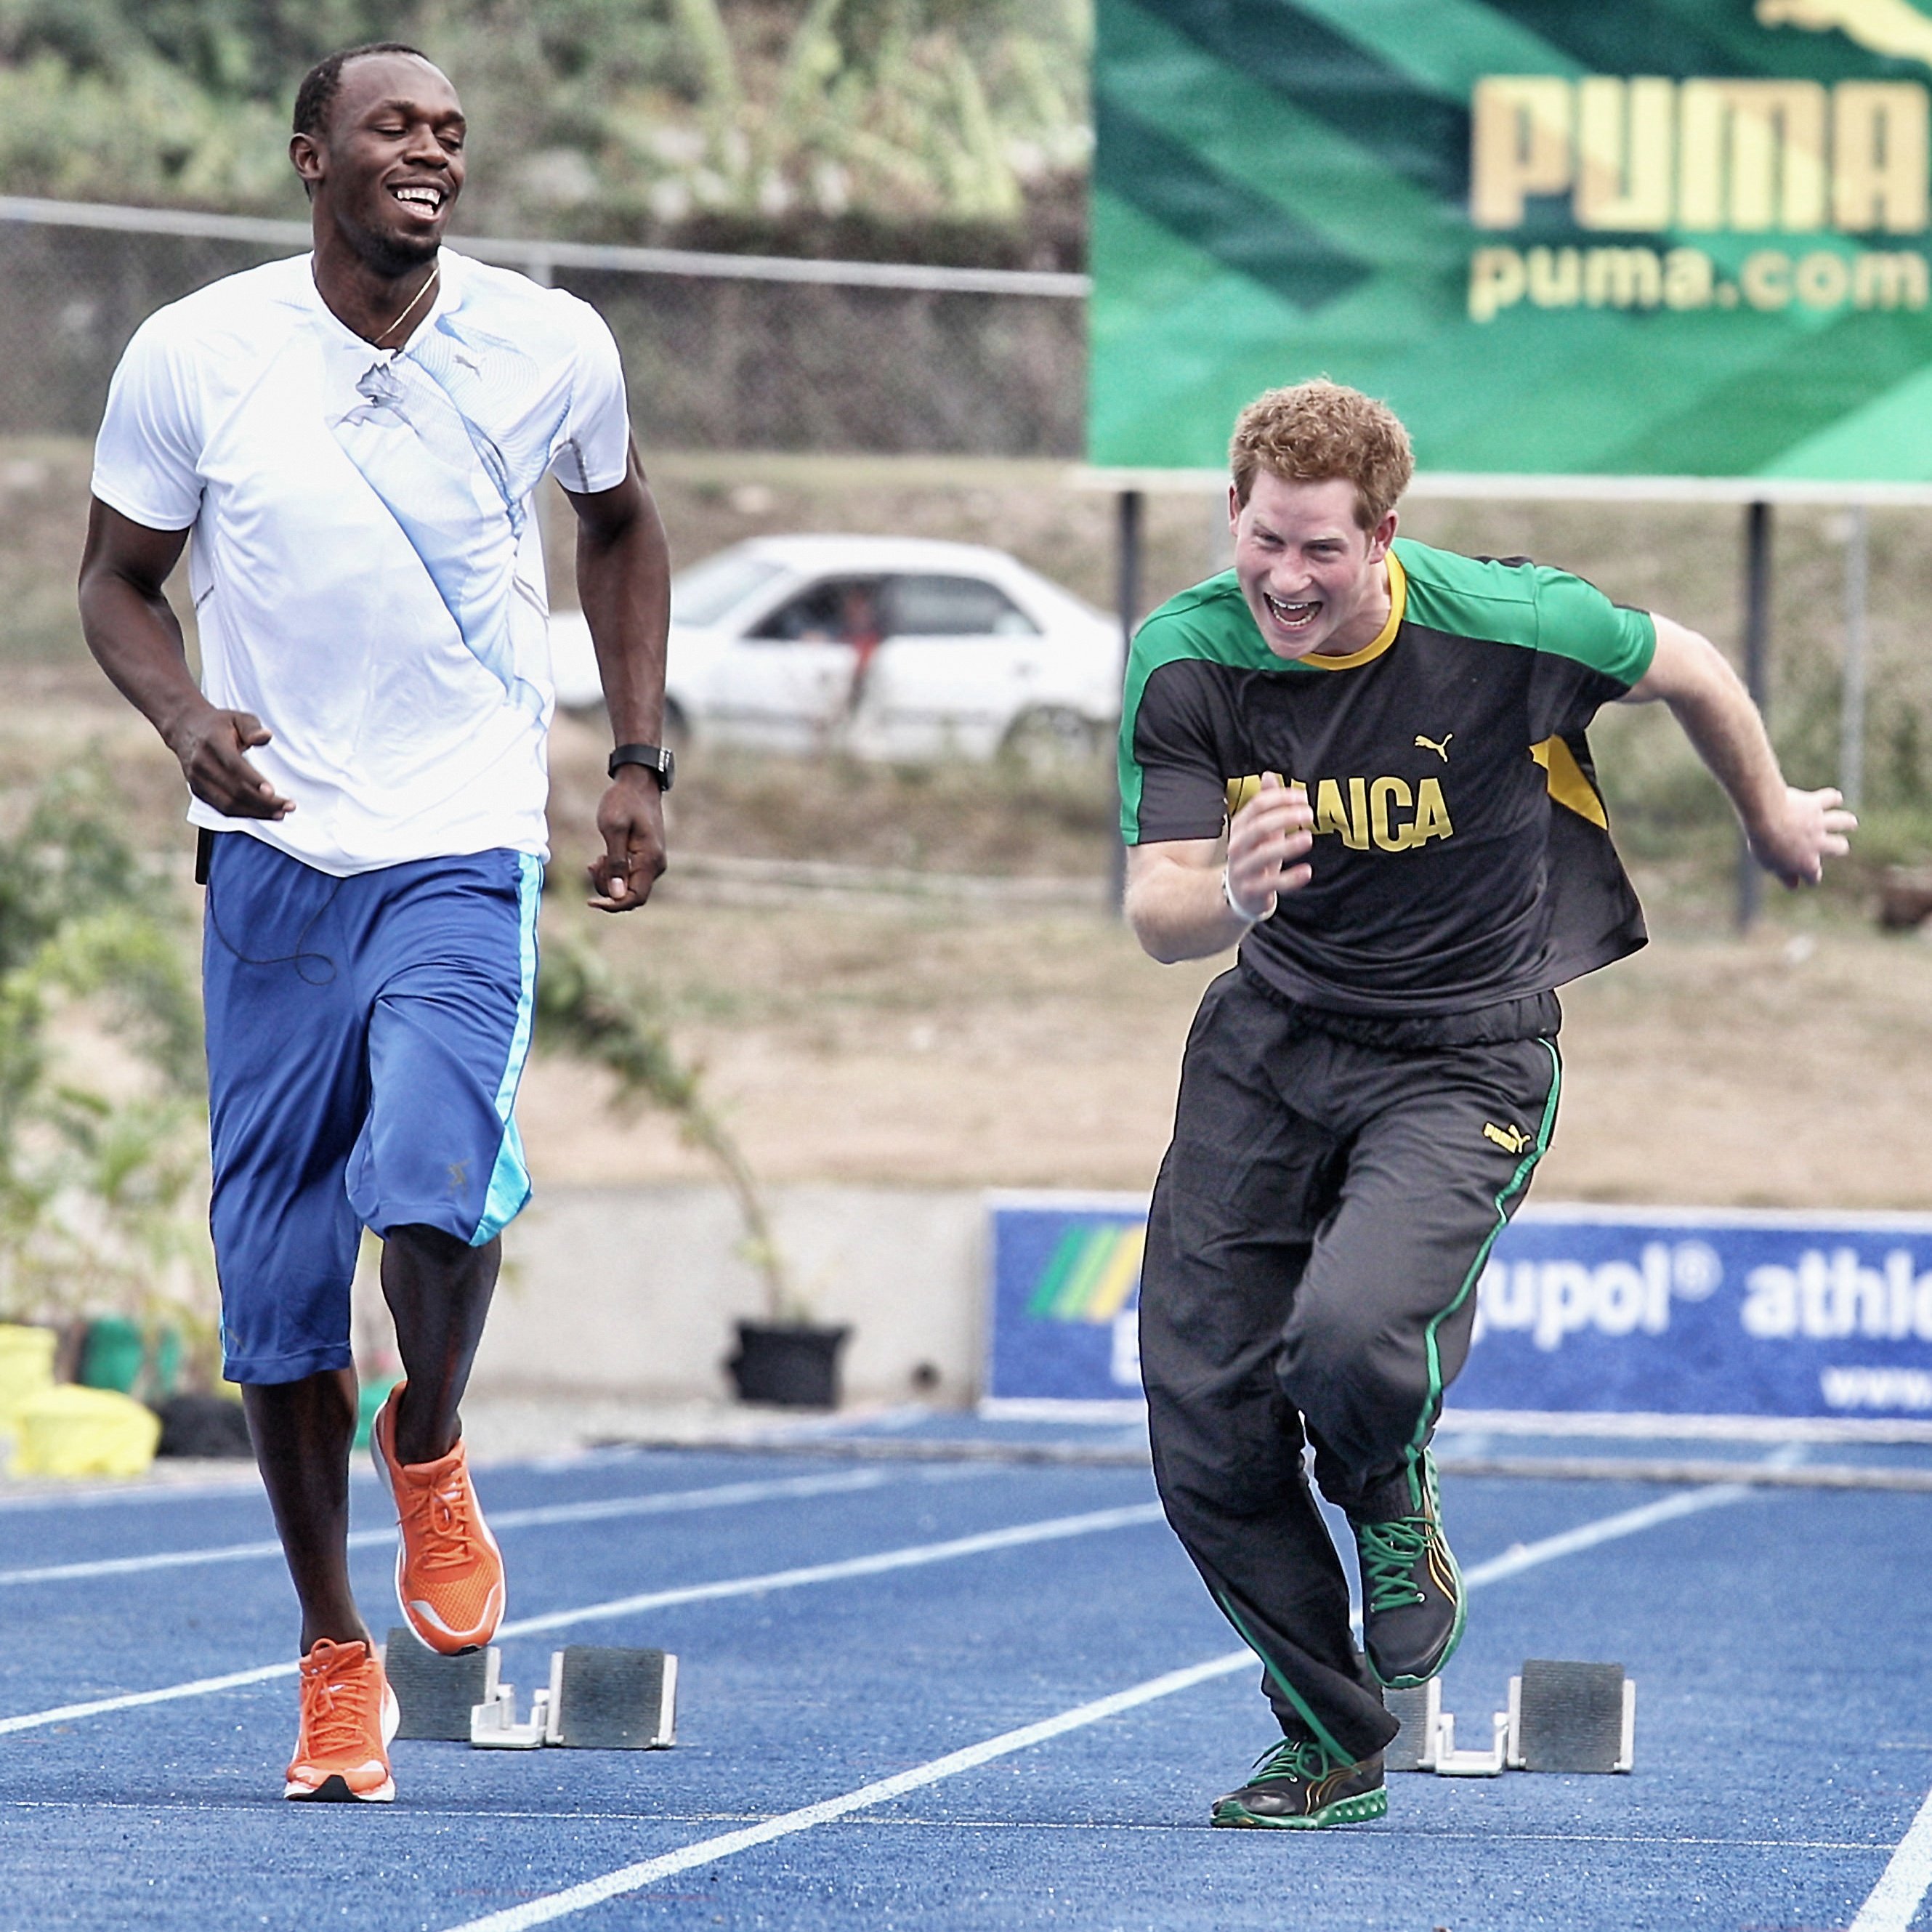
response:
<path id="1" fill-rule="evenodd" d="M 541 866 L 522 852 L 336 879 L 213 840 L 203 929 L 230 1381 L 348 1368 L 361 1229 L 483 1246 L 529 1200 L 510 1107 L 529 1051 Z"/>

